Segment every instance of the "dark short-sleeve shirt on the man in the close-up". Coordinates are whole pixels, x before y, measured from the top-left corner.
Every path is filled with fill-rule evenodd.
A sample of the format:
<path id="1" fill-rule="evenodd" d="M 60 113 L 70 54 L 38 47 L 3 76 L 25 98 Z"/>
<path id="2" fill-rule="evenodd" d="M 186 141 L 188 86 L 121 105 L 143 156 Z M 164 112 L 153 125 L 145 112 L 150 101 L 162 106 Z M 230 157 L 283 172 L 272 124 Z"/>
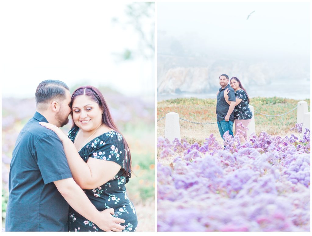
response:
<path id="1" fill-rule="evenodd" d="M 12 153 L 5 231 L 68 231 L 69 205 L 53 181 L 71 178 L 63 145 L 41 126 L 40 113 L 23 127 Z"/>

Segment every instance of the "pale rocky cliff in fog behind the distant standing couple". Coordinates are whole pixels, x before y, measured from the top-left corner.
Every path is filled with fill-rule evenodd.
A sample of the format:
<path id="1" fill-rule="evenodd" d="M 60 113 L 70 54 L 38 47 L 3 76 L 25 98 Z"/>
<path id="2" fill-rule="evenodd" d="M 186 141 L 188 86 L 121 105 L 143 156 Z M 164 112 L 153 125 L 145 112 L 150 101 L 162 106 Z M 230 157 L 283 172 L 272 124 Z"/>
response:
<path id="1" fill-rule="evenodd" d="M 199 65 L 199 66 L 198 66 Z M 218 89 L 219 76 L 238 77 L 244 86 L 270 84 L 275 72 L 266 62 L 241 60 L 207 60 L 204 57 L 158 55 L 157 92 L 207 93 Z"/>

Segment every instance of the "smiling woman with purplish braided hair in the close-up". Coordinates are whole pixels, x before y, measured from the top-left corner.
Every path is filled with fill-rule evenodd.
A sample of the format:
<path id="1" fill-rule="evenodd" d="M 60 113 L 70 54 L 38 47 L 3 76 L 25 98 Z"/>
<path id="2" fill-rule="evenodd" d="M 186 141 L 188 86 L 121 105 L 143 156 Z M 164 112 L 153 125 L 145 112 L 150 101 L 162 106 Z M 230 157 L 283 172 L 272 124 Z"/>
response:
<path id="1" fill-rule="evenodd" d="M 41 123 L 56 132 L 76 183 L 97 210 L 113 208 L 112 217 L 125 220 L 123 231 L 136 231 L 137 215 L 125 184 L 131 177 L 128 144 L 118 131 L 99 89 L 83 86 L 71 96 L 73 127 L 68 137 L 61 129 Z M 69 231 L 102 231 L 71 207 Z"/>

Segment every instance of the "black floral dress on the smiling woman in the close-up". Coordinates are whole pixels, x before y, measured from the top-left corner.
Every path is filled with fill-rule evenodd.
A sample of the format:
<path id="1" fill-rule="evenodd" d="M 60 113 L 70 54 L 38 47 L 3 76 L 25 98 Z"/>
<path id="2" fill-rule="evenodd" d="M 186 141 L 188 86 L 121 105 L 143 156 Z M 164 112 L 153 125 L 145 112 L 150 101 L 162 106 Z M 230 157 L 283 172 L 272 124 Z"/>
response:
<path id="1" fill-rule="evenodd" d="M 74 127 L 69 131 L 68 137 L 71 141 L 74 141 L 78 130 L 78 127 Z M 84 191 L 97 210 L 102 211 L 113 208 L 115 217 L 125 220 L 125 223 L 122 224 L 125 226 L 123 231 L 136 231 L 138 224 L 137 215 L 125 188 L 125 183 L 129 181 L 130 176 L 125 177 L 123 175 L 125 166 L 124 155 L 127 155 L 127 152 L 121 134 L 115 131 L 105 132 L 82 147 L 79 155 L 85 162 L 91 157 L 114 161 L 121 166 L 121 169 L 113 179 L 95 189 Z M 69 231 L 103 231 L 71 207 L 68 214 L 68 229 Z"/>

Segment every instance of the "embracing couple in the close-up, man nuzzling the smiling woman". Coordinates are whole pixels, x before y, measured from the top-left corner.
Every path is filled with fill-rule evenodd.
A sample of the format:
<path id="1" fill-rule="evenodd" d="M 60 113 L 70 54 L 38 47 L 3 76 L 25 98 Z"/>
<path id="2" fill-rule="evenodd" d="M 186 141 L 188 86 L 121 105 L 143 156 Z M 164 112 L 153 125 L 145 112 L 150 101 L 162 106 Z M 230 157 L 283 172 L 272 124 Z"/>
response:
<path id="1" fill-rule="evenodd" d="M 42 81 L 12 154 L 6 231 L 135 231 L 127 142 L 101 92 Z M 68 137 L 61 129 L 71 113 Z"/>

